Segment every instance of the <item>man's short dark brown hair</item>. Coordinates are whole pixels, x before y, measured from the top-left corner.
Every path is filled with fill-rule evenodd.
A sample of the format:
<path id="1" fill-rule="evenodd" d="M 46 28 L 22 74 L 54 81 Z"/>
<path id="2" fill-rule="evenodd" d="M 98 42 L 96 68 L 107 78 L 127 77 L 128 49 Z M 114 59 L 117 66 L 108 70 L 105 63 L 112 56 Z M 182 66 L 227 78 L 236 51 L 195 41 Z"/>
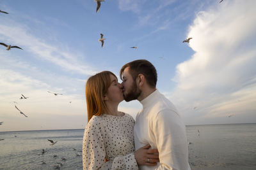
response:
<path id="1" fill-rule="evenodd" d="M 131 74 L 134 81 L 139 74 L 143 74 L 147 80 L 148 85 L 150 85 L 150 87 L 156 88 L 157 72 L 156 68 L 151 62 L 148 60 L 134 60 L 132 62 L 128 62 L 120 69 L 121 80 L 123 80 L 122 74 L 126 67 L 129 67 L 129 73 Z"/>

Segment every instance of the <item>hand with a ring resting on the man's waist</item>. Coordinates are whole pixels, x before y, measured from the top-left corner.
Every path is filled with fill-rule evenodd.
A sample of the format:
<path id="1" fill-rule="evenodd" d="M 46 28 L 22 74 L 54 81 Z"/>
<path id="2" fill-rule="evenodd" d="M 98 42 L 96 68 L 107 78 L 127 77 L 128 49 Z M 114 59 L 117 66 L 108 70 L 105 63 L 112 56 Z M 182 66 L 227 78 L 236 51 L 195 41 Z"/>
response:
<path id="1" fill-rule="evenodd" d="M 134 157 L 138 165 L 156 166 L 159 162 L 157 149 L 149 149 L 150 145 L 145 145 L 134 152 Z"/>

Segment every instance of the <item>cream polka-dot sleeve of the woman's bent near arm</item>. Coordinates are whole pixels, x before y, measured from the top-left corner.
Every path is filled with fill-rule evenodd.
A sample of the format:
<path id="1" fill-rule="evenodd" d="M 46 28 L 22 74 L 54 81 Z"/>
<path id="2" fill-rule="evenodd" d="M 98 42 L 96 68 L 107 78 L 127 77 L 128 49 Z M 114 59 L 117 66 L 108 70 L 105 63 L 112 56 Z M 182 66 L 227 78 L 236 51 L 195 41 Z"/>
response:
<path id="1" fill-rule="evenodd" d="M 107 158 L 104 141 L 100 129 L 90 122 L 84 130 L 83 169 L 138 169 L 134 153 L 118 155 L 113 160 Z"/>

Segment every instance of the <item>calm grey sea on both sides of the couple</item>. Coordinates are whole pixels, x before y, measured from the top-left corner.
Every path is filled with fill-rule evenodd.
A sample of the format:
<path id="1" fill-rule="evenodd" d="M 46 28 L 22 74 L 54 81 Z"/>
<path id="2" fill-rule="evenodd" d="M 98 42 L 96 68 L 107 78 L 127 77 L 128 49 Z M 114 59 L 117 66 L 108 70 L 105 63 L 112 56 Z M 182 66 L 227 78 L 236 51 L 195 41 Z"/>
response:
<path id="1" fill-rule="evenodd" d="M 256 124 L 188 125 L 186 130 L 191 169 L 256 169 Z M 0 132 L 0 169 L 83 169 L 83 132 Z"/>

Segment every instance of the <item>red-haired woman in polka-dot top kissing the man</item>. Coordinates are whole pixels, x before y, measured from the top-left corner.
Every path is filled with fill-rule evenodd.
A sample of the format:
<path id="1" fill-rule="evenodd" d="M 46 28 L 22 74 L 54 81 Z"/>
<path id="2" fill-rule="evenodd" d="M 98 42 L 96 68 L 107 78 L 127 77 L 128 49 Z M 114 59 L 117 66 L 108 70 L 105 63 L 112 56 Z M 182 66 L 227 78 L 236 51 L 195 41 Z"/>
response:
<path id="1" fill-rule="evenodd" d="M 118 111 L 124 100 L 115 74 L 102 71 L 86 83 L 88 124 L 83 138 L 83 169 L 138 169 L 155 166 L 157 150 L 149 145 L 134 152 L 133 118 Z M 150 160 L 150 161 L 149 161 Z"/>

